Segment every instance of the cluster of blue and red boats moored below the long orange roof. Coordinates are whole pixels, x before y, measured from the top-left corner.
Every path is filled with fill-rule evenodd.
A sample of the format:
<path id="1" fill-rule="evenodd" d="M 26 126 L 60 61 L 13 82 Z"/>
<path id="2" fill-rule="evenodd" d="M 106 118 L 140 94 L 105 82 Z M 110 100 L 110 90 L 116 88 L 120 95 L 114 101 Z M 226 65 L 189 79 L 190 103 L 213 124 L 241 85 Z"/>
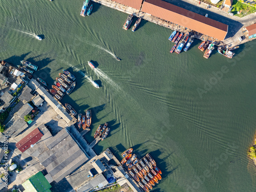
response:
<path id="1" fill-rule="evenodd" d="M 176 53 L 180 54 L 183 48 L 184 51 L 187 51 L 194 41 L 194 38 L 195 36 L 189 36 L 189 33 L 183 34 L 181 32 L 174 31 L 168 38 L 170 41 L 175 43 L 173 48 L 170 50 L 170 53 L 175 51 Z"/>

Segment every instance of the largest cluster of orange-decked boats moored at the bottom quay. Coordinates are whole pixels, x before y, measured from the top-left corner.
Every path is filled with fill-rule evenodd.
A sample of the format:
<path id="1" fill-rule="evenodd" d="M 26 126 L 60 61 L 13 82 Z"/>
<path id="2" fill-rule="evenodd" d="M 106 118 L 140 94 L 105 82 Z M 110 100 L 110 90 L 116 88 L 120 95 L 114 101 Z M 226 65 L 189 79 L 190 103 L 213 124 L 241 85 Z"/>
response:
<path id="1" fill-rule="evenodd" d="M 146 154 L 140 160 L 135 154 L 132 155 L 133 148 L 127 149 L 122 153 L 122 164 L 126 163 L 130 175 L 144 191 L 152 189 L 159 180 L 162 179 L 161 170 L 156 166 L 155 160 L 150 154 Z"/>

